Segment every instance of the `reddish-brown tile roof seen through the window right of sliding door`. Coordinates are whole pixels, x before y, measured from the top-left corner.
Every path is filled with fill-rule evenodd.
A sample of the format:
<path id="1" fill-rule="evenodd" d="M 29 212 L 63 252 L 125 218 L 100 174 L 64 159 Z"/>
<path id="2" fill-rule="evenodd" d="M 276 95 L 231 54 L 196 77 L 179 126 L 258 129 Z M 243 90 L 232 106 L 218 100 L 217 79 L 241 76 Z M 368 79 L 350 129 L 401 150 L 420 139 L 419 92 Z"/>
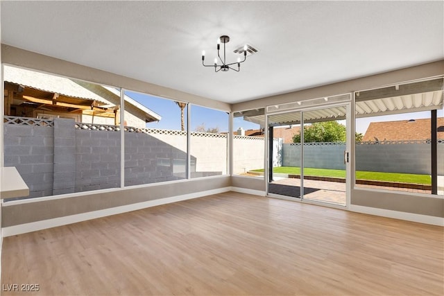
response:
<path id="1" fill-rule="evenodd" d="M 362 141 L 427 140 L 431 138 L 430 119 L 372 122 Z M 441 128 L 440 128 L 441 127 Z M 444 139 L 444 118 L 438 118 L 438 139 Z"/>

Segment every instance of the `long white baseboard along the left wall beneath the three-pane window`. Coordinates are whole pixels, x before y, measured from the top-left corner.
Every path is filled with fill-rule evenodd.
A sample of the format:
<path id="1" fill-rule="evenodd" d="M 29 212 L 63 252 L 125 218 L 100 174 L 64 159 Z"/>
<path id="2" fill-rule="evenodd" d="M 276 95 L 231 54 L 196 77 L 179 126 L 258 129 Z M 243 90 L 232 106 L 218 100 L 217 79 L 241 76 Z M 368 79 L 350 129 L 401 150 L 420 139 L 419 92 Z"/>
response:
<path id="1" fill-rule="evenodd" d="M 182 200 L 191 200 L 193 198 L 201 198 L 203 196 L 223 193 L 231 191 L 231 187 L 223 187 L 219 189 L 212 189 L 207 191 L 200 191 L 196 193 L 189 193 L 184 195 L 173 196 L 171 198 L 160 198 L 158 200 L 148 200 L 146 202 L 137 202 L 135 204 L 126 204 L 120 207 L 112 207 L 109 209 L 101 209 L 99 211 L 89 211 L 87 213 L 76 214 L 71 216 L 52 218 L 47 220 L 36 221 L 32 223 L 25 223 L 21 225 L 14 225 L 10 227 L 3 227 L 2 234 L 6 236 L 14 236 L 16 234 L 24 234 L 26 232 L 35 232 L 41 229 L 47 229 L 51 227 L 58 227 L 62 225 L 68 225 L 72 223 L 78 223 L 85 220 L 91 220 L 101 218 L 105 216 L 111 216 L 115 214 L 122 214 L 128 211 L 135 211 L 137 209 L 145 209 L 147 207 L 155 207 L 161 204 L 169 204 L 171 202 L 180 202 Z"/>

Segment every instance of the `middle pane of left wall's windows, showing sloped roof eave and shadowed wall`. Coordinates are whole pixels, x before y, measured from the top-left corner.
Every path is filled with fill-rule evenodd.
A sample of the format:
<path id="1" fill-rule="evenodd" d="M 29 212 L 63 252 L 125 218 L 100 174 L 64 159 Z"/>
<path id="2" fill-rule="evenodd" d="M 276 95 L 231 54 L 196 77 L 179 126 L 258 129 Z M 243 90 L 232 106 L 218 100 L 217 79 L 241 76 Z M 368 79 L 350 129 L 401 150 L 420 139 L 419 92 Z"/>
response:
<path id="1" fill-rule="evenodd" d="M 187 108 L 125 91 L 125 186 L 187 178 Z"/>

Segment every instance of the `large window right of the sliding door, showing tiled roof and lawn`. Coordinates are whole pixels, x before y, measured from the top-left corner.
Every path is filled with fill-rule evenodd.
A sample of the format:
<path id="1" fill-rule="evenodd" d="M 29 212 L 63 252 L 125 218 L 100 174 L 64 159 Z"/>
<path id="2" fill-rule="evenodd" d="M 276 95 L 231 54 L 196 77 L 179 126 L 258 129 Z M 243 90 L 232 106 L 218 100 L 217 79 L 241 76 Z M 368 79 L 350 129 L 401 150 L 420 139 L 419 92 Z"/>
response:
<path id="1" fill-rule="evenodd" d="M 356 94 L 355 186 L 444 195 L 442 79 L 425 83 Z"/>

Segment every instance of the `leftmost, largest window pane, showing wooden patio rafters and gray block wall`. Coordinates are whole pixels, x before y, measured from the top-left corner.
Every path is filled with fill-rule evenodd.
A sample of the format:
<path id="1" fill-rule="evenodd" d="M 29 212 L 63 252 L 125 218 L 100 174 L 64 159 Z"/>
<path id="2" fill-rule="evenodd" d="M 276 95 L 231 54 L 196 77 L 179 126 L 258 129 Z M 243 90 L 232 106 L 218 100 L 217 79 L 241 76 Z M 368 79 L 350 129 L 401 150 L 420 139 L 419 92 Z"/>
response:
<path id="1" fill-rule="evenodd" d="M 120 186 L 112 88 L 9 66 L 4 81 L 4 164 L 22 175 L 28 198 Z"/>

